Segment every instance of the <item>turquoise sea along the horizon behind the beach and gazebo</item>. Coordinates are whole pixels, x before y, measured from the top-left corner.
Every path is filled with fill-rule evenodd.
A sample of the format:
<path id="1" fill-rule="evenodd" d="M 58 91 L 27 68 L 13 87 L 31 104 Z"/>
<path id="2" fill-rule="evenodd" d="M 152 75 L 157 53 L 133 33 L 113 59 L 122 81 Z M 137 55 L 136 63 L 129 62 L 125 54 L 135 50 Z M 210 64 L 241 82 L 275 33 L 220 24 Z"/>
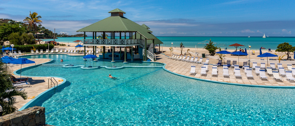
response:
<path id="1" fill-rule="evenodd" d="M 128 38 L 128 37 L 127 37 Z M 235 49 L 235 47 L 228 47 L 231 44 L 241 44 L 249 49 L 249 45 L 251 49 L 259 49 L 260 47 L 264 47 L 266 49 L 271 48 L 272 50 L 276 50 L 278 44 L 288 42 L 289 44 L 295 46 L 295 37 L 157 37 L 164 44 L 164 47 L 171 47 L 171 43 L 173 42 L 173 47 L 179 47 L 179 44 L 182 44 L 185 47 L 194 48 L 202 48 L 203 44 L 198 44 L 205 40 L 212 40 L 216 43 L 217 47 L 221 47 L 222 49 Z M 58 37 L 56 39 L 57 42 L 73 42 L 75 40 L 83 40 L 84 37 Z M 86 39 L 92 39 L 92 37 L 86 37 Z M 119 37 L 116 37 L 119 39 Z M 53 40 L 53 39 L 44 39 L 44 40 Z M 205 44 L 204 44 L 205 45 Z M 243 47 L 245 49 L 245 47 Z"/>

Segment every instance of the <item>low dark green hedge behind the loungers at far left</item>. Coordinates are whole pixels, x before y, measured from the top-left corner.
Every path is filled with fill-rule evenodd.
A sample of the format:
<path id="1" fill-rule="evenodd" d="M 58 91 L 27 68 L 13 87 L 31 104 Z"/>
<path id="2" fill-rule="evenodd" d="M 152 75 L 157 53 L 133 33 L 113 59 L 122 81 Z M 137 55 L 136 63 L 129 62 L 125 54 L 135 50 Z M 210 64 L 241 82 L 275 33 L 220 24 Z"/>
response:
<path id="1" fill-rule="evenodd" d="M 31 49 L 33 49 L 33 47 L 35 47 L 36 50 L 38 50 L 38 51 L 40 51 L 41 49 L 43 49 L 43 51 L 46 51 L 46 49 L 48 49 L 48 44 L 14 45 L 13 48 L 16 48 L 17 51 L 21 51 L 21 52 L 31 52 Z M 54 48 L 54 45 L 53 44 L 49 44 L 49 50 L 51 50 L 52 48 Z"/>

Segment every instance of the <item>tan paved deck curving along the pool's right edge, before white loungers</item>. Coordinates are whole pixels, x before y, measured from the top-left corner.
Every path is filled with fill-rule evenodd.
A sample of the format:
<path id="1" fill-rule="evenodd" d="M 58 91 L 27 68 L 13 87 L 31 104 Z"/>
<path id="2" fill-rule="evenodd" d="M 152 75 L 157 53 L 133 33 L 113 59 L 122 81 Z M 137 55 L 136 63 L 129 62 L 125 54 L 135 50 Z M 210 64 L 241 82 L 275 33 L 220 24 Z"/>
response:
<path id="1" fill-rule="evenodd" d="M 169 55 L 171 56 L 171 55 Z M 190 76 L 190 77 L 195 77 L 195 78 L 200 78 L 200 79 L 206 79 L 206 80 L 213 80 L 213 81 L 220 81 L 220 82 L 231 82 L 231 83 L 239 83 L 239 84 L 248 84 L 248 85 L 263 85 L 263 86 L 295 86 L 295 82 L 291 81 L 288 82 L 285 78 L 284 78 L 284 82 L 281 82 L 280 80 L 278 80 L 278 82 L 276 82 L 274 79 L 272 79 L 271 77 L 269 77 L 268 75 L 268 79 L 269 81 L 263 79 L 259 79 L 258 76 L 255 75 L 255 71 L 252 70 L 252 75 L 254 76 L 254 80 L 253 79 L 247 79 L 246 75 L 243 73 L 244 70 L 241 70 L 241 75 L 242 78 L 235 78 L 234 77 L 234 68 L 228 68 L 229 71 L 229 78 L 223 78 L 223 72 L 222 72 L 222 67 L 217 67 L 218 68 L 218 77 L 213 76 L 211 77 L 211 73 L 212 73 L 212 64 L 216 64 L 218 62 L 218 60 L 216 59 L 210 59 L 210 64 L 208 66 L 209 71 L 207 72 L 207 76 L 201 76 L 201 66 L 202 64 L 194 64 L 194 63 L 189 63 L 189 62 L 184 62 L 184 61 L 177 61 L 177 60 L 172 60 L 172 59 L 168 59 L 167 56 L 165 56 L 164 54 L 157 54 L 157 62 L 163 62 L 166 64 L 165 68 L 171 72 L 175 72 L 181 75 L 185 75 L 185 76 Z M 205 61 L 205 60 L 203 60 Z M 196 75 L 189 75 L 191 66 L 195 65 L 196 66 Z"/>

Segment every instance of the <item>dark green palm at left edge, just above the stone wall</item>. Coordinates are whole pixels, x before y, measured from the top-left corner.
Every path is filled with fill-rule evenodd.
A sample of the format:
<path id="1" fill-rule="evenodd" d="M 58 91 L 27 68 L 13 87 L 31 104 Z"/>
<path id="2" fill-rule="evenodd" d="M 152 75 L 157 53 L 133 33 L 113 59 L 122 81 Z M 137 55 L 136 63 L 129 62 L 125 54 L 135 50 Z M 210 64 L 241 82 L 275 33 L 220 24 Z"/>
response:
<path id="1" fill-rule="evenodd" d="M 14 106 L 16 103 L 14 96 L 21 96 L 24 100 L 26 100 L 27 97 L 24 91 L 18 91 L 12 87 L 9 74 L 10 72 L 9 69 L 7 69 L 7 66 L 2 61 L 0 61 L 0 108 L 2 109 L 0 116 L 2 116 L 2 114 L 10 114 L 17 110 L 17 108 Z M 13 90 L 10 92 L 5 92 L 7 89 Z"/>

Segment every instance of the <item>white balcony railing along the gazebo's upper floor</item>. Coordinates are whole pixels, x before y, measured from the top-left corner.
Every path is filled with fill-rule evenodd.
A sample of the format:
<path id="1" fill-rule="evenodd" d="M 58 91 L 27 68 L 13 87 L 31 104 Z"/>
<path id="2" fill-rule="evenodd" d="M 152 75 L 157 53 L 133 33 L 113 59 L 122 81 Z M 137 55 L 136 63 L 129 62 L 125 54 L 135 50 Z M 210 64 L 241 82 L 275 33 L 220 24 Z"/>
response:
<path id="1" fill-rule="evenodd" d="M 85 39 L 83 44 L 114 44 L 114 45 L 128 45 L 140 44 L 144 42 L 143 39 Z"/>

